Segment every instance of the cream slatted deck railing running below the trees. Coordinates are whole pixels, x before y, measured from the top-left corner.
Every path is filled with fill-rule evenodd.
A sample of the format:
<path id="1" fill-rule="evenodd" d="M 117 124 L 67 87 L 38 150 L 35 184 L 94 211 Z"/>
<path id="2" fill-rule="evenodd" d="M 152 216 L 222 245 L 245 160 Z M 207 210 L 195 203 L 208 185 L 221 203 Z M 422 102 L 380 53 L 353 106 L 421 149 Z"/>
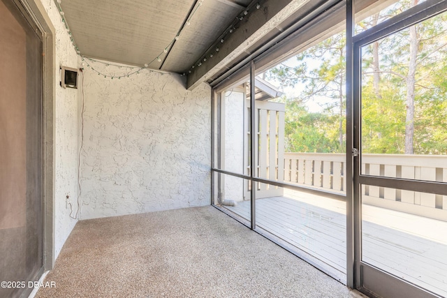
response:
<path id="1" fill-rule="evenodd" d="M 346 155 L 285 153 L 284 181 L 336 193 L 346 191 Z M 362 154 L 362 174 L 447 181 L 447 156 Z M 447 221 L 447 196 L 362 186 L 362 202 Z"/>

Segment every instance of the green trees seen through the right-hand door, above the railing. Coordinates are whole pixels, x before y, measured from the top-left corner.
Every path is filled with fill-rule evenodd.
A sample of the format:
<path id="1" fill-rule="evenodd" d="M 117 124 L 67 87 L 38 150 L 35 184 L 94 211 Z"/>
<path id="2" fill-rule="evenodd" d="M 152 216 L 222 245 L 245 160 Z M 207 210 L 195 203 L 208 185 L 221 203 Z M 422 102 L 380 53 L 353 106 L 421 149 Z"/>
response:
<path id="1" fill-rule="evenodd" d="M 400 9 L 417 2 L 401 1 Z M 362 49 L 364 152 L 447 154 L 446 32 L 441 14 L 379 40 L 379 61 L 372 45 Z M 376 73 L 378 93 L 372 90 Z"/>

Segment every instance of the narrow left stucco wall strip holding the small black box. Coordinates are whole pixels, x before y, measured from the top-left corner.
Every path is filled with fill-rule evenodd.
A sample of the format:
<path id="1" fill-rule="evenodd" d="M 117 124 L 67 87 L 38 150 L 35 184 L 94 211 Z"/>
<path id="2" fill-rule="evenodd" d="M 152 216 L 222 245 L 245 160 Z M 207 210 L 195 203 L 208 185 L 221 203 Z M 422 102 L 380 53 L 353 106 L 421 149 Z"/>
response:
<path id="1" fill-rule="evenodd" d="M 79 124 L 79 91 L 63 89 L 59 86 L 59 66 L 80 66 L 78 54 L 71 44 L 59 11 L 54 1 L 42 0 L 43 6 L 56 29 L 55 70 L 56 84 L 55 114 L 54 114 L 54 258 L 57 258 L 62 246 L 73 230 L 78 198 L 78 124 Z M 67 207 L 66 195 L 70 196 L 73 212 Z M 71 214 L 71 216 L 70 216 Z"/>

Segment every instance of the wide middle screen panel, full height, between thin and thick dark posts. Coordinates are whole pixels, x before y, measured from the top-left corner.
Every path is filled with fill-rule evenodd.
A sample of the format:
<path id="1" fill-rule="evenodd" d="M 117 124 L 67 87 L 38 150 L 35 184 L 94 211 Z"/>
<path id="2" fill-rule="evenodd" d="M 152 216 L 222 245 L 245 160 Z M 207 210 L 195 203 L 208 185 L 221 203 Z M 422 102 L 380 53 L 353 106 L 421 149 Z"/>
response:
<path id="1" fill-rule="evenodd" d="M 256 229 L 342 283 L 344 47 L 345 33 L 337 32 L 280 64 L 256 70 L 252 82 L 254 177 L 262 179 L 256 183 Z"/>

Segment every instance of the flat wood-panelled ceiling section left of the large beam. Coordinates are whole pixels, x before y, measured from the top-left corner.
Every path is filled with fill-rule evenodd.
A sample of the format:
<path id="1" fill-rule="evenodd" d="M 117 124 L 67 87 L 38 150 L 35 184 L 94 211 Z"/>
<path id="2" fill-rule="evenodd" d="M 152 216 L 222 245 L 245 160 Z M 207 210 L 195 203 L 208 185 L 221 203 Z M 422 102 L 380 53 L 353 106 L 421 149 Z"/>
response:
<path id="1" fill-rule="evenodd" d="M 60 6 L 85 57 L 183 73 L 250 2 L 62 0 Z"/>

